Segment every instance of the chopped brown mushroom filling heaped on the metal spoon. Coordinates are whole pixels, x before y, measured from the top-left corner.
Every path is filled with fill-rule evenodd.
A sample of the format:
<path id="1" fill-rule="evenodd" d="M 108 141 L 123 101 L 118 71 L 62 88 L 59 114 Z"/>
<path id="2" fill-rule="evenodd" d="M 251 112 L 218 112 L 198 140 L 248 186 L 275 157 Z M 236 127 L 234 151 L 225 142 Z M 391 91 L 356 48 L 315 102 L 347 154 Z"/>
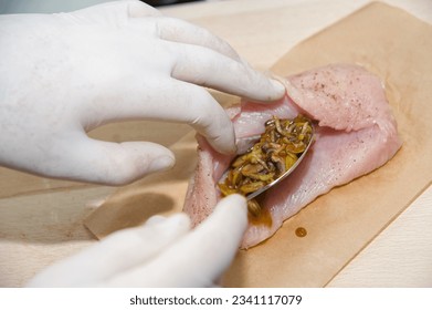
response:
<path id="1" fill-rule="evenodd" d="M 231 163 L 225 179 L 218 184 L 222 196 L 247 196 L 271 184 L 297 162 L 312 137 L 309 118 L 301 114 L 294 120 L 273 116 L 265 122 L 265 131 L 260 140 Z M 262 211 L 254 198 L 247 202 L 247 209 L 254 217 Z"/>

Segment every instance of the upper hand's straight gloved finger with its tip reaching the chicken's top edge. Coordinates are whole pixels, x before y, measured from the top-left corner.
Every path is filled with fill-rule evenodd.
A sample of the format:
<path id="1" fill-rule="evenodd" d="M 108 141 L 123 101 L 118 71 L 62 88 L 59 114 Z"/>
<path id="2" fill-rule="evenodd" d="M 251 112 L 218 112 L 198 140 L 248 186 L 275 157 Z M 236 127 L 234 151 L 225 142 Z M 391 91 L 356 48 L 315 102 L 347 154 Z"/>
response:
<path id="1" fill-rule="evenodd" d="M 285 86 L 253 70 L 246 62 L 200 46 L 177 44 L 178 58 L 172 76 L 210 86 L 253 101 L 276 101 L 285 95 Z"/>

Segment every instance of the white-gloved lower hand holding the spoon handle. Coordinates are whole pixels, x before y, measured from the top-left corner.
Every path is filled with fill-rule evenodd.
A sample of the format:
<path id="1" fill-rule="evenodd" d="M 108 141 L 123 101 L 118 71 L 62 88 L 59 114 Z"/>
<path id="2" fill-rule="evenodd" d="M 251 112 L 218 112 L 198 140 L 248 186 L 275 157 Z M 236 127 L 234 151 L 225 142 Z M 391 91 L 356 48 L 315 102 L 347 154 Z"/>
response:
<path id="1" fill-rule="evenodd" d="M 30 287 L 210 287 L 230 265 L 247 226 L 245 198 L 231 195 L 194 230 L 178 214 L 152 217 L 36 275 Z"/>

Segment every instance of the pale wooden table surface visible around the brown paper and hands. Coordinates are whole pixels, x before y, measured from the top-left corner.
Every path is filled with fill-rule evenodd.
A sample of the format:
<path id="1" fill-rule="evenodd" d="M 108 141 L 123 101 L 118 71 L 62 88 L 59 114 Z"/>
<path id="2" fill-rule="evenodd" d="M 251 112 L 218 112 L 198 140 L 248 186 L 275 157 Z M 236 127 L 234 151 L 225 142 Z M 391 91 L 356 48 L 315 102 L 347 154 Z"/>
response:
<path id="1" fill-rule="evenodd" d="M 171 6 L 161 11 L 202 24 L 230 42 L 252 65 L 267 70 L 292 46 L 369 1 L 221 0 Z M 387 0 L 432 23 L 432 1 Z M 289 7 L 278 29 L 215 22 L 221 14 Z M 260 31 L 257 31 L 260 30 Z M 239 35 L 242 33 L 243 35 Z M 265 55 L 265 56 L 263 56 Z M 92 136 L 147 140 L 166 146 L 190 132 L 185 125 L 110 124 Z M 20 287 L 53 261 L 96 242 L 83 220 L 116 188 L 52 180 L 0 168 L 0 286 Z M 390 226 L 355 257 L 328 287 L 431 287 L 432 188 L 426 188 Z M 397 272 L 396 272 L 397 271 Z"/>

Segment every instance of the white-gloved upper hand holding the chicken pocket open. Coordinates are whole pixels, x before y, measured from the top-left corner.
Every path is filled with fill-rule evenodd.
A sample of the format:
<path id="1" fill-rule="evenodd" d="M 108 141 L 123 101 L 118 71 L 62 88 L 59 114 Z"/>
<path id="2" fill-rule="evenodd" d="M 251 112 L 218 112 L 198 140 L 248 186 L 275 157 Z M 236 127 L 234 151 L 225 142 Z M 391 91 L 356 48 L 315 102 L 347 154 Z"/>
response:
<path id="1" fill-rule="evenodd" d="M 256 101 L 285 93 L 226 42 L 140 1 L 0 16 L 0 165 L 112 185 L 173 165 L 158 144 L 86 135 L 124 120 L 188 123 L 234 152 L 229 117 L 199 85 Z"/>

